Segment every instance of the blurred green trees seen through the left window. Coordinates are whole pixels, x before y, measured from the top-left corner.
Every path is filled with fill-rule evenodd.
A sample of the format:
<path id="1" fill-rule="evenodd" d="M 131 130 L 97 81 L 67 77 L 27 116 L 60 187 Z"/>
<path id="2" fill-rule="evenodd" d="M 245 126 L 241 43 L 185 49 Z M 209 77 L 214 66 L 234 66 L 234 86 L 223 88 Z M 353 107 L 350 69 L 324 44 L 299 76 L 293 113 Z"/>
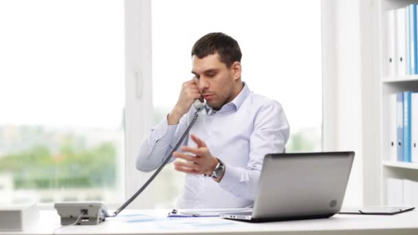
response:
<path id="1" fill-rule="evenodd" d="M 0 172 L 12 173 L 16 189 L 113 187 L 115 166 L 115 144 L 83 148 L 71 139 L 58 153 L 36 145 L 0 159 Z"/>

